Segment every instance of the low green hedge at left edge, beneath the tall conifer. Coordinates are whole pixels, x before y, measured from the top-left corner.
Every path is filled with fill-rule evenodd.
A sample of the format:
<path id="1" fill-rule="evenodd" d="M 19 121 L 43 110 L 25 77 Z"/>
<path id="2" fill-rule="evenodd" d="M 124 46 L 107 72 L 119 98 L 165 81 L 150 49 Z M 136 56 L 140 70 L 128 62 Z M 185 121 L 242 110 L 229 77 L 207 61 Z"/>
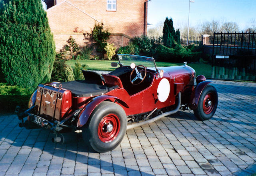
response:
<path id="1" fill-rule="evenodd" d="M 28 108 L 31 94 L 29 89 L 0 83 L 0 112 L 14 112 L 16 106 Z"/>

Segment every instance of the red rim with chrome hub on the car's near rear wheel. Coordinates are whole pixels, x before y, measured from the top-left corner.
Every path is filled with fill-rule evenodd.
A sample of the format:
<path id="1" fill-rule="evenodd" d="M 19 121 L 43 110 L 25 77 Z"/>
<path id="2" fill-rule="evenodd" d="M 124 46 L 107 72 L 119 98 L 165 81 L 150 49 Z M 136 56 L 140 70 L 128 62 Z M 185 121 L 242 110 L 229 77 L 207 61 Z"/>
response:
<path id="1" fill-rule="evenodd" d="M 120 120 L 115 114 L 108 114 L 99 123 L 98 136 L 102 142 L 111 142 L 118 136 Z"/>

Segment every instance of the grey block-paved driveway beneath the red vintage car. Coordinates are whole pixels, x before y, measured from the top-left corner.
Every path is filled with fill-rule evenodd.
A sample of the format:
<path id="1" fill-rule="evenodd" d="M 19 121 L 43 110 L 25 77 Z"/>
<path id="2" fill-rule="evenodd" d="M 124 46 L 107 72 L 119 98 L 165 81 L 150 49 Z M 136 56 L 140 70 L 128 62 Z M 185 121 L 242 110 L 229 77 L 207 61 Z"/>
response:
<path id="1" fill-rule="evenodd" d="M 214 83 L 216 114 L 190 111 L 126 132 L 112 152 L 88 151 L 82 138 L 53 144 L 44 129 L 19 128 L 0 116 L 0 175 L 246 175 L 256 172 L 256 83 Z M 243 170 L 243 171 L 241 171 Z"/>

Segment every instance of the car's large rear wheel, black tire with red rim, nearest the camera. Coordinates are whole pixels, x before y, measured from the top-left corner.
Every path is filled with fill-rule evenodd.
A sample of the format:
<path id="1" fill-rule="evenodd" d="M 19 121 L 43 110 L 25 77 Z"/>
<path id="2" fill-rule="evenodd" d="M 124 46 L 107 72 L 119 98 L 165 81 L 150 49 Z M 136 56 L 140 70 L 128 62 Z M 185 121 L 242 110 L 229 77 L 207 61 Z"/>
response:
<path id="1" fill-rule="evenodd" d="M 108 125 L 105 124 L 112 124 L 111 132 L 106 130 Z M 82 128 L 82 136 L 85 144 L 90 145 L 96 152 L 108 152 L 120 144 L 126 133 L 126 127 L 127 118 L 124 109 L 113 102 L 101 102 L 90 115 L 90 121 Z M 102 133 L 110 140 L 108 141 L 106 136 L 102 137 Z M 110 133 L 115 137 L 111 137 Z"/>

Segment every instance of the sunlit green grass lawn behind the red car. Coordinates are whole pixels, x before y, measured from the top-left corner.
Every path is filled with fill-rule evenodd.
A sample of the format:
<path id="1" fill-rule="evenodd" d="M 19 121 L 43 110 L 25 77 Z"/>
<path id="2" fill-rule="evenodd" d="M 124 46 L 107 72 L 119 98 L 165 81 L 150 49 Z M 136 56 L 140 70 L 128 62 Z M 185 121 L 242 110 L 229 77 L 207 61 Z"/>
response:
<path id="1" fill-rule="evenodd" d="M 76 60 L 68 60 L 66 64 L 75 67 Z M 117 60 L 81 60 L 81 64 L 86 64 L 88 70 L 115 70 L 116 67 L 111 67 L 111 62 Z M 178 66 L 182 63 L 156 62 L 156 66 Z M 196 70 L 196 75 L 203 74 L 206 78 L 211 78 L 212 66 L 210 64 L 188 64 Z"/>

